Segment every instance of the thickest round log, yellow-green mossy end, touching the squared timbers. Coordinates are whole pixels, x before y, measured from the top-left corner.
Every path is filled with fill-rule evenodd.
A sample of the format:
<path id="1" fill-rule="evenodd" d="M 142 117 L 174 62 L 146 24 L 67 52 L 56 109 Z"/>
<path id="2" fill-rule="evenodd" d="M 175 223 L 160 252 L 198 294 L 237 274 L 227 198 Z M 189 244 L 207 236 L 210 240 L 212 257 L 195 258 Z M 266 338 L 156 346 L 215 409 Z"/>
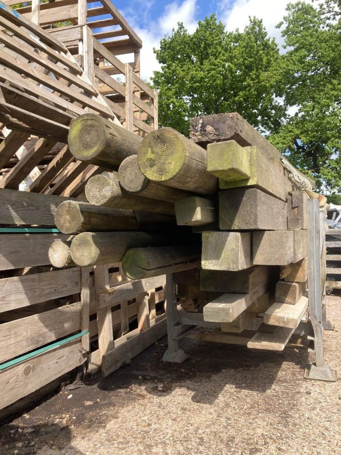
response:
<path id="1" fill-rule="evenodd" d="M 173 128 L 149 133 L 141 142 L 137 161 L 153 182 L 196 192 L 216 192 L 218 180 L 206 170 L 206 150 Z"/>

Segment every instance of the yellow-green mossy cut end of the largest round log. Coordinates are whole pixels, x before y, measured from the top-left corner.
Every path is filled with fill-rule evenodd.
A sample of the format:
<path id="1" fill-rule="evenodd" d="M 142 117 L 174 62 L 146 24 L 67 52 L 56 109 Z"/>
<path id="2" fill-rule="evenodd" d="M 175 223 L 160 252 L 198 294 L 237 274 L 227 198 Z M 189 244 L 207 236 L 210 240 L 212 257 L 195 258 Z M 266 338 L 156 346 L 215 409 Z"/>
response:
<path id="1" fill-rule="evenodd" d="M 165 182 L 174 177 L 184 159 L 181 134 L 170 127 L 160 128 L 145 136 L 137 154 L 140 170 L 154 182 Z"/>

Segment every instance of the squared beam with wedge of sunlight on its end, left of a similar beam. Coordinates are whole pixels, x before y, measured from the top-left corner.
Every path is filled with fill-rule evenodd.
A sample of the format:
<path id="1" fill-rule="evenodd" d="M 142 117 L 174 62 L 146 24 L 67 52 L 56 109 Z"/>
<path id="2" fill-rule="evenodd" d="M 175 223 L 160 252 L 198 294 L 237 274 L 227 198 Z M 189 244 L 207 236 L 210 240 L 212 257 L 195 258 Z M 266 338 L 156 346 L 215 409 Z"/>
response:
<path id="1" fill-rule="evenodd" d="M 202 233 L 201 267 L 209 270 L 244 270 L 252 267 L 251 233 Z"/>

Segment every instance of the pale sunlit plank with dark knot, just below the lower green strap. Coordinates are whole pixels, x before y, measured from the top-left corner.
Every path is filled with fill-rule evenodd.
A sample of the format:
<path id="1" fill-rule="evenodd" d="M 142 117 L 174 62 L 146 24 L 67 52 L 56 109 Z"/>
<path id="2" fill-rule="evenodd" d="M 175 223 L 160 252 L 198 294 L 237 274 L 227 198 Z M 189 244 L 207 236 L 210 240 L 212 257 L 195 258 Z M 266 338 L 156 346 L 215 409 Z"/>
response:
<path id="1" fill-rule="evenodd" d="M 45 384 L 83 364 L 81 343 L 75 340 L 33 359 L 26 360 L 0 374 L 1 408 L 43 387 Z"/>

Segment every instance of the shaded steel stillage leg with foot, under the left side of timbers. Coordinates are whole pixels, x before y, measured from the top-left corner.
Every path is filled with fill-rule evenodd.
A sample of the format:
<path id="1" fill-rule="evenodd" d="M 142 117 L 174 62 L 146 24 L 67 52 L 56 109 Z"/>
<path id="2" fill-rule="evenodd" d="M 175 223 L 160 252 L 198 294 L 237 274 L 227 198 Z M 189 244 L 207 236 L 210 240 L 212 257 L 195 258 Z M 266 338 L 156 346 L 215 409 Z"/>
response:
<path id="1" fill-rule="evenodd" d="M 189 355 L 179 349 L 179 340 L 173 338 L 173 327 L 178 322 L 176 308 L 176 283 L 174 283 L 173 274 L 166 275 L 166 316 L 167 316 L 167 334 L 168 349 L 162 356 L 165 362 L 181 364 Z"/>

